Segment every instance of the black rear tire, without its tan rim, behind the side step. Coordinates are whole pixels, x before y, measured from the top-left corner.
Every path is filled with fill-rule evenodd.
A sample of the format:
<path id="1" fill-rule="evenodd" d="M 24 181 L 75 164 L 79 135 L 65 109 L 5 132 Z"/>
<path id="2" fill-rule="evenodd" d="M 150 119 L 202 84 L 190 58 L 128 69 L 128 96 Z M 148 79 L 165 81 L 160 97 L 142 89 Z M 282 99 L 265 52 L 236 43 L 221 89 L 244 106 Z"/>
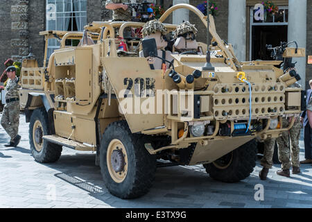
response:
<path id="1" fill-rule="evenodd" d="M 33 111 L 31 115 L 31 121 L 29 123 L 29 144 L 31 145 L 31 153 L 37 162 L 49 163 L 56 162 L 60 159 L 62 153 L 62 146 L 58 144 L 53 144 L 42 140 L 42 149 L 37 151 L 35 148 L 35 141 L 33 139 L 33 130 L 35 121 L 40 121 L 42 125 L 43 135 L 51 135 L 49 129 L 48 114 L 45 108 L 37 108 Z"/>

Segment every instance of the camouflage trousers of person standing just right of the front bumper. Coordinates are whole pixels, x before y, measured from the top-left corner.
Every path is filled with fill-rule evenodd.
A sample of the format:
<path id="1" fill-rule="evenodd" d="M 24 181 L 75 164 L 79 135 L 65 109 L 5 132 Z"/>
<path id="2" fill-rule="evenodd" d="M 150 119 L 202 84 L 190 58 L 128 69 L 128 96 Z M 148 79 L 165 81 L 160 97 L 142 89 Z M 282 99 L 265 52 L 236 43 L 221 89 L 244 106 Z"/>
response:
<path id="1" fill-rule="evenodd" d="M 283 119 L 283 126 L 288 126 L 288 124 L 289 121 Z M 289 132 L 286 131 L 282 133 L 281 137 L 277 138 L 277 144 L 279 145 L 279 161 L 281 162 L 281 169 L 290 169 L 291 166 L 300 167 L 300 129 L 300 119 L 297 118 Z M 289 144 L 289 138 L 291 139 L 291 144 Z"/>

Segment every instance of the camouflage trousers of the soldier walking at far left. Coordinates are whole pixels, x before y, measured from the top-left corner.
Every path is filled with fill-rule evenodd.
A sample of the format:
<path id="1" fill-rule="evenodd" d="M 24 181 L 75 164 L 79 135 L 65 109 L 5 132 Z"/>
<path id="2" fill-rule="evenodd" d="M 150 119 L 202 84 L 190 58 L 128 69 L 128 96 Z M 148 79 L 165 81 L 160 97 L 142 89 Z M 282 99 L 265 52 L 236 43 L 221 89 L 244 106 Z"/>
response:
<path id="1" fill-rule="evenodd" d="M 1 126 L 11 137 L 11 142 L 19 133 L 19 101 L 7 103 L 2 112 Z"/>

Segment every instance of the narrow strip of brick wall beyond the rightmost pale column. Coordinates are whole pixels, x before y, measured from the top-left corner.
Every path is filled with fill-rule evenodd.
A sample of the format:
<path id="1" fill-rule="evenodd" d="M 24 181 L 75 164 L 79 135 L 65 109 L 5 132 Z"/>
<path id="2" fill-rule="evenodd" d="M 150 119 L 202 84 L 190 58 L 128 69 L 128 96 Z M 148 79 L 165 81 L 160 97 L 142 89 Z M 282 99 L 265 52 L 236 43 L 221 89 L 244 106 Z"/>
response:
<path id="1" fill-rule="evenodd" d="M 312 56 L 312 1 L 308 0 L 306 7 L 306 61 Z M 306 65 L 306 89 L 310 89 L 309 80 L 312 79 L 312 65 Z"/>

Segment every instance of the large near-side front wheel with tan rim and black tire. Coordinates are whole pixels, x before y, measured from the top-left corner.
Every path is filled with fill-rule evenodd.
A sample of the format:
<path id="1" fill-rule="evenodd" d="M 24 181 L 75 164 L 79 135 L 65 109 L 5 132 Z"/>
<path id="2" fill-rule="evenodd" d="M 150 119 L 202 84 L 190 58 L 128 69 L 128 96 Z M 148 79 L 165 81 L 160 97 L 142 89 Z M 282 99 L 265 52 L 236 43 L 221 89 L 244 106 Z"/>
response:
<path id="1" fill-rule="evenodd" d="M 119 198 L 148 193 L 156 171 L 156 157 L 146 148 L 144 136 L 132 134 L 126 121 L 107 126 L 101 139 L 100 166 L 105 186 Z"/>

